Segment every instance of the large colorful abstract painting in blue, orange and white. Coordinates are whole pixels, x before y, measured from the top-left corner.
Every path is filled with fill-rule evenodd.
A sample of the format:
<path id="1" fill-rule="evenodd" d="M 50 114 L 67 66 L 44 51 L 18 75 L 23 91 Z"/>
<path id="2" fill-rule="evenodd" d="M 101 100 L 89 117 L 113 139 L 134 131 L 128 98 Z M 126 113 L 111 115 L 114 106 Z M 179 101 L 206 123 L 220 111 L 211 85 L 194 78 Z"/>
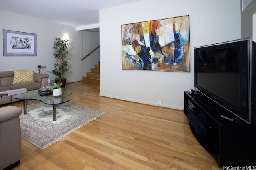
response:
<path id="1" fill-rule="evenodd" d="M 123 70 L 190 72 L 188 15 L 121 27 Z"/>

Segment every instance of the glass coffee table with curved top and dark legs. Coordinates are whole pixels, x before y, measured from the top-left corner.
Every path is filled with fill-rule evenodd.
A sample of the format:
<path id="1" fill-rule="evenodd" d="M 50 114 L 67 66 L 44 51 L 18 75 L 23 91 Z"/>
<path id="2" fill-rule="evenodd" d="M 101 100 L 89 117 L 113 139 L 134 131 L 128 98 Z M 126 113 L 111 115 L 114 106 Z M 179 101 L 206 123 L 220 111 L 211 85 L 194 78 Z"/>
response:
<path id="1" fill-rule="evenodd" d="M 44 102 L 45 104 L 51 104 L 53 107 L 53 121 L 56 121 L 56 106 L 58 104 L 62 104 L 70 101 L 71 93 L 72 91 L 66 88 L 62 88 L 62 95 L 60 96 L 53 96 L 52 94 L 40 95 L 39 90 L 33 90 L 26 93 L 18 94 L 14 96 L 14 98 L 23 100 L 24 115 L 27 114 L 28 102 L 33 102 L 35 100 L 38 100 L 40 102 Z M 33 102 L 31 104 L 36 104 L 36 103 L 38 102 Z"/>

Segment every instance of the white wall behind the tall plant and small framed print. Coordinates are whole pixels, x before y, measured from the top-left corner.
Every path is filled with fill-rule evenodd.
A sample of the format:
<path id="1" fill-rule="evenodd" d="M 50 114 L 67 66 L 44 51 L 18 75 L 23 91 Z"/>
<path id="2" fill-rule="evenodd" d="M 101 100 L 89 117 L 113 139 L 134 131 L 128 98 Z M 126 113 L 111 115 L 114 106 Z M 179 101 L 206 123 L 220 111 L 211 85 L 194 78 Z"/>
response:
<path id="1" fill-rule="evenodd" d="M 38 72 L 37 65 L 46 66 L 42 73 L 50 75 L 55 79 L 52 71 L 54 57 L 52 47 L 54 37 L 63 38 L 64 35 L 70 37 L 71 60 L 68 63 L 71 66 L 67 82 L 76 82 L 82 80 L 82 31 L 76 31 L 76 27 L 62 25 L 30 16 L 20 15 L 13 12 L 1 10 L 1 41 L 0 41 L 0 70 L 23 70 L 34 69 Z M 37 34 L 37 56 L 3 56 L 3 29 L 12 31 L 21 31 Z"/>

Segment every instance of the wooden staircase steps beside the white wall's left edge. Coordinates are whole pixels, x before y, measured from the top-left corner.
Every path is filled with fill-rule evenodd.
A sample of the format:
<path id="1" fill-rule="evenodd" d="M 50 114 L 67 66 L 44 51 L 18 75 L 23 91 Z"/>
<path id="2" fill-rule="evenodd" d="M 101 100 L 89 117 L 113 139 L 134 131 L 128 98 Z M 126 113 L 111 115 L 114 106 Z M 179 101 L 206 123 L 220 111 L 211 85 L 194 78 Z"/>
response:
<path id="1" fill-rule="evenodd" d="M 98 85 L 100 86 L 100 63 L 91 68 L 91 72 L 86 73 L 87 76 L 83 77 L 83 84 Z"/>

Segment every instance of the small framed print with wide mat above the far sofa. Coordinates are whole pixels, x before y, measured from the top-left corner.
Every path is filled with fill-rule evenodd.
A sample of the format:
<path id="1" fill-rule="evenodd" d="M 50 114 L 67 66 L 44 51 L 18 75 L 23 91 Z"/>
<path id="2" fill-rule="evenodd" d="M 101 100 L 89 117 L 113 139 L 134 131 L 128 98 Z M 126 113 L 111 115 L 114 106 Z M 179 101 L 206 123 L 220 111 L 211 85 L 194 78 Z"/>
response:
<path id="1" fill-rule="evenodd" d="M 3 30 L 4 56 L 37 56 L 37 35 Z"/>

